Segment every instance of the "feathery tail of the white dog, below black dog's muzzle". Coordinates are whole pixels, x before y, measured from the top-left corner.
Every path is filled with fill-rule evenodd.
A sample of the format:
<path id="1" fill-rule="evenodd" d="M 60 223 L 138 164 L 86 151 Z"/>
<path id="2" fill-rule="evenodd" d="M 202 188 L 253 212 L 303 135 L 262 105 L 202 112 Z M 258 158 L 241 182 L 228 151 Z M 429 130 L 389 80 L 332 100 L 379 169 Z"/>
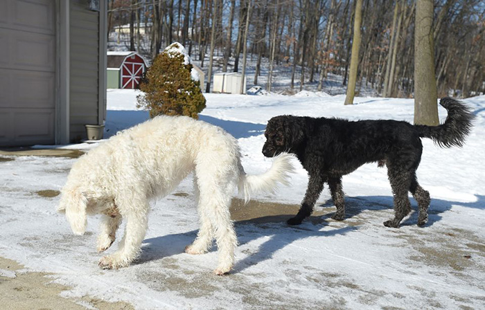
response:
<path id="1" fill-rule="evenodd" d="M 259 175 L 249 175 L 244 172 L 243 166 L 240 165 L 239 192 L 244 193 L 245 202 L 251 199 L 251 194 L 257 192 L 271 192 L 274 194 L 278 183 L 283 185 L 290 185 L 288 179 L 289 173 L 294 172 L 294 167 L 291 163 L 293 155 L 288 153 L 281 153 L 275 156 L 270 170 Z"/>

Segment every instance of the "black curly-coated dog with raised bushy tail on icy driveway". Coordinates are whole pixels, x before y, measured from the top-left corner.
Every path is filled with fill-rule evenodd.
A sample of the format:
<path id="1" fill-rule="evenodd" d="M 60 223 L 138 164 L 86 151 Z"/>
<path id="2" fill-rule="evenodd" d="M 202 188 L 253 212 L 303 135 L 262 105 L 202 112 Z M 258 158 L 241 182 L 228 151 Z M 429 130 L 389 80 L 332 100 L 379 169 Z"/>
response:
<path id="1" fill-rule="evenodd" d="M 432 138 L 441 147 L 461 147 L 469 134 L 474 118 L 468 107 L 452 98 L 439 102 L 448 111 L 446 121 L 439 126 L 411 125 L 397 120 L 359 120 L 276 116 L 266 127 L 263 154 L 276 156 L 281 152 L 296 154 L 308 172 L 308 188 L 301 208 L 290 225 L 301 224 L 310 216 L 324 183 L 328 183 L 337 212 L 332 219 L 345 217 L 342 176 L 364 163 L 387 165 L 387 174 L 394 194 L 395 217 L 385 221 L 387 227 L 399 227 L 411 211 L 407 191 L 418 203 L 418 226 L 427 222 L 430 194 L 416 179 L 421 161 L 421 138 Z"/>

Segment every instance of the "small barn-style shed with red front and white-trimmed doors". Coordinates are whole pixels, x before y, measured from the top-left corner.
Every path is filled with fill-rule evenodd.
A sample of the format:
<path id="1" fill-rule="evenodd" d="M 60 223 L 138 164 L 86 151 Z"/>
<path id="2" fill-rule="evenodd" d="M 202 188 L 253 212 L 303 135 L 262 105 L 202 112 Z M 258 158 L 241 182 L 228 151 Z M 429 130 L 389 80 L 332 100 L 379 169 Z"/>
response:
<path id="1" fill-rule="evenodd" d="M 136 52 L 107 52 L 107 88 L 138 89 L 146 63 Z"/>

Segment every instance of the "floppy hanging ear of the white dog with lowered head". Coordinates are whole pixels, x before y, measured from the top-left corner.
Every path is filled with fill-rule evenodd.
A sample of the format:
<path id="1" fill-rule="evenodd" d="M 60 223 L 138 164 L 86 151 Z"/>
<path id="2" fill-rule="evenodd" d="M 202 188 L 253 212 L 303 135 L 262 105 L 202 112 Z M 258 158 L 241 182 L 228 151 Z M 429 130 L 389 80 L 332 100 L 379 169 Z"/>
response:
<path id="1" fill-rule="evenodd" d="M 62 190 L 58 212 L 66 213 L 73 233 L 82 235 L 87 226 L 87 198 L 78 189 Z"/>

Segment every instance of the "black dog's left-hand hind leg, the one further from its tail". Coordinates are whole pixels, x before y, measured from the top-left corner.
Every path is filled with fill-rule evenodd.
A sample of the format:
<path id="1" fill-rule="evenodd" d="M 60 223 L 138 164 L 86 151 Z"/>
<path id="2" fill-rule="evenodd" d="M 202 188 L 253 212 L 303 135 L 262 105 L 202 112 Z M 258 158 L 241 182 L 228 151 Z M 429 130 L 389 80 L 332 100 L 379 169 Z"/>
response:
<path id="1" fill-rule="evenodd" d="M 407 191 L 411 185 L 411 175 L 407 171 L 389 167 L 387 174 L 391 183 L 394 196 L 394 219 L 384 222 L 384 226 L 398 228 L 400 221 L 411 212 L 411 203 L 407 197 Z"/>

